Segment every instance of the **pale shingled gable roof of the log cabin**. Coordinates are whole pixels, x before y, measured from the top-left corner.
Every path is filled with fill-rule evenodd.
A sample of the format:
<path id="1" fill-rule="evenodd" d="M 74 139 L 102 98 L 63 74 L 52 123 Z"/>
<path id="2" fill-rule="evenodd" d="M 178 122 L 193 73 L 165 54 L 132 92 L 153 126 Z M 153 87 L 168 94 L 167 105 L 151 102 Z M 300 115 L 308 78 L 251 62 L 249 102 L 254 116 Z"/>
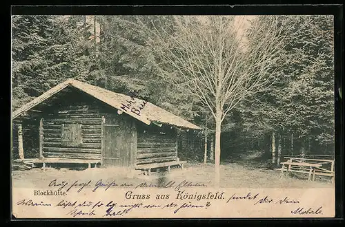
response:
<path id="1" fill-rule="evenodd" d="M 160 107 L 157 107 L 156 105 L 153 105 L 150 102 L 146 102 L 144 107 L 141 109 L 140 114 L 137 115 L 130 111 L 129 108 L 124 109 L 121 107 L 124 107 L 124 105 L 128 103 L 128 100 L 135 100 L 136 103 L 143 103 L 145 102 L 144 100 L 141 100 L 139 98 L 132 98 L 124 94 L 115 93 L 113 91 L 109 91 L 107 89 L 103 89 L 101 87 L 97 87 L 73 79 L 66 80 L 63 83 L 55 87 L 52 87 L 52 89 L 46 91 L 41 96 L 34 98 L 34 100 L 28 102 L 26 105 L 23 105 L 23 107 L 20 107 L 16 111 L 13 111 L 12 119 L 17 118 L 18 116 L 25 113 L 32 107 L 39 105 L 39 103 L 50 98 L 54 94 L 57 94 L 59 91 L 65 89 L 68 86 L 75 87 L 85 92 L 86 94 L 89 94 L 90 96 L 93 96 L 98 100 L 105 102 L 106 104 L 110 105 L 111 107 L 114 107 L 115 109 L 123 111 L 124 113 L 132 116 L 133 118 L 137 118 L 141 122 L 144 122 L 146 125 L 150 125 L 151 122 L 154 122 L 158 124 L 172 125 L 175 127 L 187 129 L 201 129 L 197 125 L 194 125 L 193 123 L 188 122 L 187 120 L 184 120 L 183 118 L 180 118 L 179 116 L 176 116 L 175 114 L 172 114 L 169 111 L 166 111 L 165 109 L 161 109 Z M 139 109 L 139 107 L 135 108 Z M 126 111 L 126 109 L 128 109 L 128 111 Z"/>

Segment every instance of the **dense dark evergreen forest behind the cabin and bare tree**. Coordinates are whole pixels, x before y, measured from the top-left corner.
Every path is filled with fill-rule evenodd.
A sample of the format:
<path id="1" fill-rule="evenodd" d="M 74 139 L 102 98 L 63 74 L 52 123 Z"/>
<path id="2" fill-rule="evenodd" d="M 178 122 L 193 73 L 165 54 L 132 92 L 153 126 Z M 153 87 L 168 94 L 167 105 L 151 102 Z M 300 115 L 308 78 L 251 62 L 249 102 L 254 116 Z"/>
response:
<path id="1" fill-rule="evenodd" d="M 13 16 L 12 110 L 68 78 L 135 92 L 207 127 L 208 158 L 213 160 L 213 118 L 197 98 L 161 79 L 161 59 L 147 44 L 146 29 L 175 32 L 173 17 Z M 249 151 L 273 162 L 284 155 L 334 153 L 333 17 L 287 19 L 284 52 L 272 66 L 279 67 L 279 77 L 226 116 L 222 160 Z M 203 160 L 204 133 L 181 134 L 181 155 Z"/>

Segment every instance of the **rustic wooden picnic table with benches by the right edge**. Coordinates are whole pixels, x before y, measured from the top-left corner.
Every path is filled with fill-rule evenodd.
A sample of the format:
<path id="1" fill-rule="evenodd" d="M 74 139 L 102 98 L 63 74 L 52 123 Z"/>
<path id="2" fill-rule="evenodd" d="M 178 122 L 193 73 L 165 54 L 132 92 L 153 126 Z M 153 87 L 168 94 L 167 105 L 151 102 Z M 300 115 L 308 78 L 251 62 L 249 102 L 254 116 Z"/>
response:
<path id="1" fill-rule="evenodd" d="M 286 171 L 286 175 L 290 172 L 307 173 L 308 180 L 315 180 L 315 175 L 331 176 L 334 182 L 334 160 L 318 160 L 308 158 L 293 158 L 284 157 L 288 159 L 286 162 L 281 162 L 281 175 Z M 325 165 L 325 166 L 324 166 Z M 328 166 L 328 167 L 326 167 Z M 326 169 L 328 168 L 328 169 Z"/>

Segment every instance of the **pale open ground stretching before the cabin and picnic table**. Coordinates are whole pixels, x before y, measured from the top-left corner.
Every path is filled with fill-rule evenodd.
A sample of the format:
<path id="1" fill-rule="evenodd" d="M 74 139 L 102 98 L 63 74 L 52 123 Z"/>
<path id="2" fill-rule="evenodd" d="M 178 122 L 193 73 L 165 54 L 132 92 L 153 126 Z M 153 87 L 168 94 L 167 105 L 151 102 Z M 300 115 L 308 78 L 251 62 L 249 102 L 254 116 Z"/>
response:
<path id="1" fill-rule="evenodd" d="M 290 175 L 279 177 L 279 171 L 266 168 L 267 162 L 255 161 L 255 157 L 233 158 L 221 163 L 221 187 L 226 188 L 331 188 L 330 177 L 316 176 L 314 182 L 308 181 L 307 175 Z M 138 185 L 142 182 L 163 185 L 173 180 L 213 185 L 214 165 L 188 162 L 184 169 L 172 168 L 167 171 L 152 172 L 144 175 L 141 171 L 128 171 L 124 168 L 92 168 L 83 170 L 39 168 L 27 171 L 12 171 L 14 187 L 44 187 L 54 179 L 58 180 L 92 180 L 97 182 L 123 182 Z"/>

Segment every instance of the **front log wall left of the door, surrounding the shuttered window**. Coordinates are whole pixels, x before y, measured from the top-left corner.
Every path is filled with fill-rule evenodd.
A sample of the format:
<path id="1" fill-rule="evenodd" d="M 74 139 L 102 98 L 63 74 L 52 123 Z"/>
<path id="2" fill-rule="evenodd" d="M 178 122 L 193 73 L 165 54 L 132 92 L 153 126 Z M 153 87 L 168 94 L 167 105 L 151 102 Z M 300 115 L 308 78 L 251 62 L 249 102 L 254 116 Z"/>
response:
<path id="1" fill-rule="evenodd" d="M 55 110 L 43 120 L 43 157 L 101 159 L 101 116 L 95 105 L 70 105 Z M 61 125 L 81 124 L 81 144 L 62 144 Z"/>

